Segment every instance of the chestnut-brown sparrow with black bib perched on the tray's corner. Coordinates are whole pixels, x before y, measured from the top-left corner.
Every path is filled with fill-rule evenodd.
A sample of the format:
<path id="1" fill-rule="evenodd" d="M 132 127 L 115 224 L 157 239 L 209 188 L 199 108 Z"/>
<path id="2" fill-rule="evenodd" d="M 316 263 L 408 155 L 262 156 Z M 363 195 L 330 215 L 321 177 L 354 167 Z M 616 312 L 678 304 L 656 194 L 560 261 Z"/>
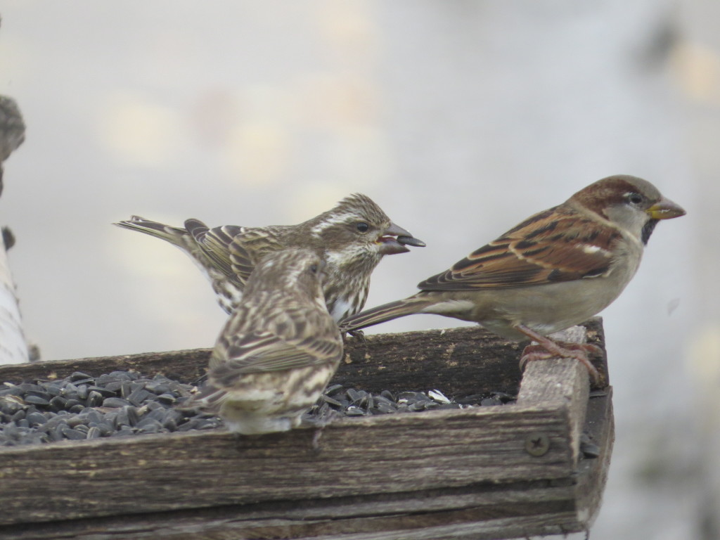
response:
<path id="1" fill-rule="evenodd" d="M 649 181 L 618 174 L 595 181 L 539 212 L 450 269 L 420 282 L 420 292 L 341 321 L 354 331 L 414 313 L 479 323 L 513 341 L 531 339 L 523 361 L 561 356 L 599 374 L 589 345 L 557 343 L 549 334 L 596 315 L 636 273 L 660 220 L 685 215 Z"/>

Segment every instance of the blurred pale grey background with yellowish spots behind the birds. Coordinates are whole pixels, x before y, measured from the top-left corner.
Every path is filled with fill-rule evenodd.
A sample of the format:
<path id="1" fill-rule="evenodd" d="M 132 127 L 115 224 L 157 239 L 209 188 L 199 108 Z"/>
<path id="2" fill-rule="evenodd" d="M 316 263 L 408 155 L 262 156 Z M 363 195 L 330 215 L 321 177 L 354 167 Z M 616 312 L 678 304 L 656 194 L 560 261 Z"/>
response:
<path id="1" fill-rule="evenodd" d="M 617 438 L 592 538 L 720 537 L 719 3 L 0 0 L 0 15 L 0 94 L 27 123 L 0 222 L 43 359 L 215 341 L 210 287 L 110 225 L 131 214 L 288 224 L 363 192 L 428 244 L 384 259 L 372 306 L 635 174 L 688 215 L 660 224 L 603 312 Z"/>

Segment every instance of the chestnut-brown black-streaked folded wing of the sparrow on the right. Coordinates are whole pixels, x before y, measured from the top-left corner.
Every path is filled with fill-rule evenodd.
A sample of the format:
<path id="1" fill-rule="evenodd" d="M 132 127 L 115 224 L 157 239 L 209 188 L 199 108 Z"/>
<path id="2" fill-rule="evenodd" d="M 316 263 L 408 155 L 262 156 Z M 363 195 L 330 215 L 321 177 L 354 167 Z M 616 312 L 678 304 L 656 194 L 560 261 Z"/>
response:
<path id="1" fill-rule="evenodd" d="M 540 212 L 451 269 L 418 284 L 426 291 L 524 287 L 601 276 L 618 230 L 566 207 Z"/>

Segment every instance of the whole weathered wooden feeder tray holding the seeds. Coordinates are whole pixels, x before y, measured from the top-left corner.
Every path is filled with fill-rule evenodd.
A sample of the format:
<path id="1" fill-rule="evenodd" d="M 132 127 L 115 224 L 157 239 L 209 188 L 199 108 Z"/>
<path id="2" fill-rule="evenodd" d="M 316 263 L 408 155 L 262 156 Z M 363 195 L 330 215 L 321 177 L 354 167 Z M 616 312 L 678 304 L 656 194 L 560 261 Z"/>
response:
<path id="1" fill-rule="evenodd" d="M 599 318 L 584 325 L 603 346 Z M 506 539 L 586 531 L 613 444 L 611 387 L 474 328 L 349 339 L 333 383 L 516 403 L 237 438 L 222 430 L 0 448 L 0 539 Z M 0 382 L 115 369 L 192 382 L 209 349 L 0 366 Z M 607 374 L 605 360 L 598 362 Z M 585 433 L 599 448 L 583 457 Z"/>

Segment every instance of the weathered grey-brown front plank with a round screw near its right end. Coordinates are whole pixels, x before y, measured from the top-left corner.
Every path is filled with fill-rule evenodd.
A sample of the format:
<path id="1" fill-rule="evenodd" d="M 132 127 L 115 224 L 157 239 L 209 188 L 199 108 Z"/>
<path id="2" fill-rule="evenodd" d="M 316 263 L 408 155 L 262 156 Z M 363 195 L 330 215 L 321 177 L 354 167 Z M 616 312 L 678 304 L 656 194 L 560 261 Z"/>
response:
<path id="1" fill-rule="evenodd" d="M 538 430 L 551 446 L 534 457 L 525 444 Z M 552 408 L 340 420 L 325 428 L 320 451 L 313 434 L 171 433 L 0 449 L 0 523 L 552 479 L 574 468 L 570 433 Z"/>

